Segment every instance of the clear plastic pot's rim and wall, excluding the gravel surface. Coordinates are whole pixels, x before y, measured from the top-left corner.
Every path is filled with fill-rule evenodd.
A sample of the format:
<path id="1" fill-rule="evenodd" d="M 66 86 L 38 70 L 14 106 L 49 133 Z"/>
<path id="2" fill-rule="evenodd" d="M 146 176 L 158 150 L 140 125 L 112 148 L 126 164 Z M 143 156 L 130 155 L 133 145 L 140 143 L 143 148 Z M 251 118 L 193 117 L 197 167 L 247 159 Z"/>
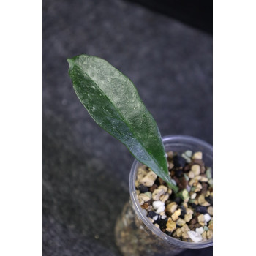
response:
<path id="1" fill-rule="evenodd" d="M 165 151 L 182 153 L 187 150 L 202 151 L 203 161 L 212 170 L 213 148 L 210 144 L 185 135 L 162 138 Z M 184 249 L 200 249 L 212 246 L 213 240 L 199 243 L 180 241 L 163 233 L 146 217 L 135 192 L 135 178 L 140 162 L 135 160 L 129 175 L 130 200 L 126 203 L 116 222 L 116 244 L 125 256 L 176 255 Z"/>

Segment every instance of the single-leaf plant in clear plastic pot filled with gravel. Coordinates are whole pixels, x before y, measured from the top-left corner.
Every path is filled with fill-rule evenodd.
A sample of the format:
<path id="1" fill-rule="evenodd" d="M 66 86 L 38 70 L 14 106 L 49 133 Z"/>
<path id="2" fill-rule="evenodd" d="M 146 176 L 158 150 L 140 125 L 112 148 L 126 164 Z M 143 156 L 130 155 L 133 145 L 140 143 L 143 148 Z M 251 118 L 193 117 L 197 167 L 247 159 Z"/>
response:
<path id="1" fill-rule="evenodd" d="M 137 159 L 130 201 L 116 223 L 124 255 L 211 246 L 212 147 L 188 136 L 162 139 L 132 81 L 107 61 L 87 55 L 67 61 L 80 102 Z"/>

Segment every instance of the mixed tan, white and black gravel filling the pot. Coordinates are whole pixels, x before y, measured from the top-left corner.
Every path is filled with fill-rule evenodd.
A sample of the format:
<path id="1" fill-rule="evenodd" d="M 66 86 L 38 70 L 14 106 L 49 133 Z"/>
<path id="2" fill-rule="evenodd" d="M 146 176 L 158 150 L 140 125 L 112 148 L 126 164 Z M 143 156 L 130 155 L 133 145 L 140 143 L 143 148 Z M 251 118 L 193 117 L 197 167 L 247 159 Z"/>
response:
<path id="1" fill-rule="evenodd" d="M 150 168 L 139 167 L 135 181 L 141 208 L 150 222 L 168 236 L 200 242 L 213 236 L 213 180 L 202 152 L 169 151 L 170 178 L 178 186 L 174 193 Z"/>

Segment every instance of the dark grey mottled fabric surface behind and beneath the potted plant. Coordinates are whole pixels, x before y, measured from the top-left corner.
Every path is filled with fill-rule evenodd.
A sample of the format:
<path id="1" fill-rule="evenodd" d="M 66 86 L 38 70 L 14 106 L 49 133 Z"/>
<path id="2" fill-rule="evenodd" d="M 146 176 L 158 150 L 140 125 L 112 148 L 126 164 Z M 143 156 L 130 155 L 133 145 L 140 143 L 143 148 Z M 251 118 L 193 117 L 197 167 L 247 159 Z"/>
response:
<path id="1" fill-rule="evenodd" d="M 43 38 L 43 255 L 120 255 L 113 230 L 133 158 L 80 104 L 66 59 L 108 60 L 162 135 L 212 143 L 212 37 L 130 1 L 44 0 Z"/>

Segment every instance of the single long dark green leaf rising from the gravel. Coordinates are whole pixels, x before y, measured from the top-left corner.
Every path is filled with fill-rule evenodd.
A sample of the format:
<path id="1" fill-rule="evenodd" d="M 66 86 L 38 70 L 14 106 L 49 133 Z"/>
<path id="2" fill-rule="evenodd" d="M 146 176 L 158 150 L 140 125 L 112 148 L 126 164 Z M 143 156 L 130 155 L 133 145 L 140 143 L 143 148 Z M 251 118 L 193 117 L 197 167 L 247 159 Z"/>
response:
<path id="1" fill-rule="evenodd" d="M 80 55 L 67 61 L 75 92 L 94 121 L 176 192 L 159 129 L 132 81 L 95 56 Z"/>

